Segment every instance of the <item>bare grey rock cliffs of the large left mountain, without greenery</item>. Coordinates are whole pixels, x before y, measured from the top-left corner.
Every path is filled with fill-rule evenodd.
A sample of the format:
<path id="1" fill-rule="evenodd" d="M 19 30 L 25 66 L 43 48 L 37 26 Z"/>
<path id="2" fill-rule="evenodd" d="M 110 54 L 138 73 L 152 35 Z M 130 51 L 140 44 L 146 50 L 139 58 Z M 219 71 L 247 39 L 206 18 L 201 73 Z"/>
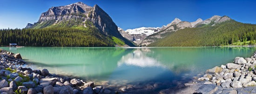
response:
<path id="1" fill-rule="evenodd" d="M 102 34 L 115 36 L 123 40 L 128 46 L 134 46 L 132 42 L 122 37 L 117 30 L 116 24 L 98 5 L 92 7 L 82 2 L 77 2 L 67 6 L 51 7 L 47 12 L 41 14 L 37 24 L 42 24 L 47 21 L 54 21 L 54 24 L 58 24 L 61 21 L 74 19 L 75 21 L 77 19 L 82 20 L 82 23 L 77 24 L 83 24 L 86 21 L 90 21 Z M 48 26 L 54 24 L 49 24 Z M 28 28 L 31 28 L 32 26 L 29 26 Z M 85 24 L 84 27 L 86 27 Z"/>

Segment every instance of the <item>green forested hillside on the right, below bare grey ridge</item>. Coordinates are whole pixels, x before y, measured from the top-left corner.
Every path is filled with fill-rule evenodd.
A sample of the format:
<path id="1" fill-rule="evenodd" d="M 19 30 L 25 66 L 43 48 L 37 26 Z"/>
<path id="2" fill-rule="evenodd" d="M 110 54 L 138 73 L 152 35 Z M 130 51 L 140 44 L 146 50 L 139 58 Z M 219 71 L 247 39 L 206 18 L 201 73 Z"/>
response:
<path id="1" fill-rule="evenodd" d="M 256 25 L 230 20 L 221 24 L 180 29 L 148 47 L 199 47 L 229 45 L 237 41 L 256 40 Z"/>

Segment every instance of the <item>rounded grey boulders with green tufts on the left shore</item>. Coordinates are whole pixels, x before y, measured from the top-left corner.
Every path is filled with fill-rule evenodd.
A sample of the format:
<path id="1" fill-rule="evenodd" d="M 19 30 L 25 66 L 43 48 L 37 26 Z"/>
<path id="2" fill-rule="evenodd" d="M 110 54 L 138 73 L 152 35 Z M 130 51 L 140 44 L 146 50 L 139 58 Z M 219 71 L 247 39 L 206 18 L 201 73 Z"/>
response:
<path id="1" fill-rule="evenodd" d="M 109 89 L 94 86 L 68 76 L 50 74 L 47 69 L 22 68 L 26 62 L 20 53 L 0 49 L 0 94 L 110 94 Z"/>

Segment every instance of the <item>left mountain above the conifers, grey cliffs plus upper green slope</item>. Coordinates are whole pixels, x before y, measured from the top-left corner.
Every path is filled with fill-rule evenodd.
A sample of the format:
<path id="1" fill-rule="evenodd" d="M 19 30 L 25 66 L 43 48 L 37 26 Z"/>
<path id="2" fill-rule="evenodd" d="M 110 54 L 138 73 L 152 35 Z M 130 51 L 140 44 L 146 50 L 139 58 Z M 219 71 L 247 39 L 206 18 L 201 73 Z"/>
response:
<path id="1" fill-rule="evenodd" d="M 116 24 L 98 5 L 93 7 L 82 2 L 67 6 L 51 7 L 43 12 L 38 22 L 29 24 L 26 28 L 88 28 L 95 27 L 105 37 L 116 37 L 130 47 L 135 45 L 124 38 Z M 113 40 L 114 41 L 114 40 Z"/>

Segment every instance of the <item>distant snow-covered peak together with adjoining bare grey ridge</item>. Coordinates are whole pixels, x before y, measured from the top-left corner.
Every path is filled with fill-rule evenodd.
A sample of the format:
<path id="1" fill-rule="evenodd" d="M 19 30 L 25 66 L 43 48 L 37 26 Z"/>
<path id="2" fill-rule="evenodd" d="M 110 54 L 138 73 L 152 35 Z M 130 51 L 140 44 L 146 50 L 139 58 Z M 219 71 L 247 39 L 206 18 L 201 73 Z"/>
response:
<path id="1" fill-rule="evenodd" d="M 122 29 L 119 29 L 119 31 L 122 32 L 121 35 L 123 35 L 125 38 L 129 39 L 130 41 L 134 41 L 139 46 L 145 47 L 158 39 L 166 37 L 170 32 L 185 28 L 197 28 L 210 23 L 214 23 L 212 24 L 212 26 L 214 26 L 215 24 L 220 24 L 222 22 L 229 21 L 230 19 L 231 18 L 228 16 L 221 17 L 215 15 L 206 20 L 198 18 L 195 22 L 187 22 L 182 21 L 179 18 L 175 18 L 171 23 L 167 24 L 166 26 L 164 25 L 161 28 L 141 27 L 137 29 L 127 29 L 124 31 L 125 33 L 122 32 Z"/>

